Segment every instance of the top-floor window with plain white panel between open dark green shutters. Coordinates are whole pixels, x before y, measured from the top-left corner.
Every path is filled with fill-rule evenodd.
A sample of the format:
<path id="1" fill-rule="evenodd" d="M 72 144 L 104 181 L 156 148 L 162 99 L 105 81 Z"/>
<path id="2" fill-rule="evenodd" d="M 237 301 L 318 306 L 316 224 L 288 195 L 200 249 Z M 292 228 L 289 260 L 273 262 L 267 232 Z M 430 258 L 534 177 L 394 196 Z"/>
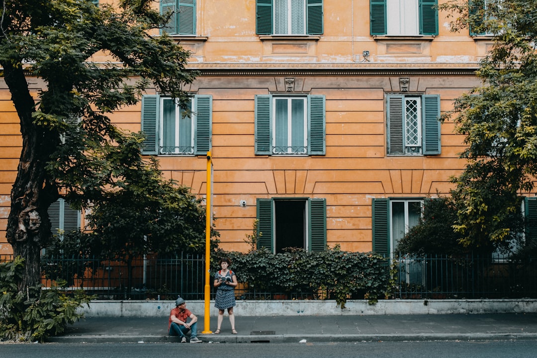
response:
<path id="1" fill-rule="evenodd" d="M 372 35 L 438 35 L 438 0 L 369 0 Z"/>

